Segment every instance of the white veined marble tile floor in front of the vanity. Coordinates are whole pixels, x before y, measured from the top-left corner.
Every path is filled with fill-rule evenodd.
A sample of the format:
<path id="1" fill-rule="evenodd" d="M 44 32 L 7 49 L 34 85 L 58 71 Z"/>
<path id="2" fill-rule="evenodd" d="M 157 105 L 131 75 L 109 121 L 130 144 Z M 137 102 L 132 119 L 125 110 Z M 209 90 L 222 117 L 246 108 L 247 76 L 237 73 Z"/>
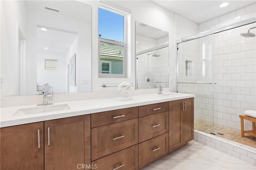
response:
<path id="1" fill-rule="evenodd" d="M 190 141 L 141 170 L 255 170 L 256 166 L 234 156 Z"/>

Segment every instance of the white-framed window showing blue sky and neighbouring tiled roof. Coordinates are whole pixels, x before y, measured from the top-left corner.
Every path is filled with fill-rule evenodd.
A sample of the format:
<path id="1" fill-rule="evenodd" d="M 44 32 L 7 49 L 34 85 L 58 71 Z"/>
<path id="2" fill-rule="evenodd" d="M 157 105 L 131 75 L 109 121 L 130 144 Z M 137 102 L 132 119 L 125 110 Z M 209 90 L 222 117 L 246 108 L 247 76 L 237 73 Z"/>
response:
<path id="1" fill-rule="evenodd" d="M 98 8 L 99 78 L 126 78 L 125 13 Z"/>

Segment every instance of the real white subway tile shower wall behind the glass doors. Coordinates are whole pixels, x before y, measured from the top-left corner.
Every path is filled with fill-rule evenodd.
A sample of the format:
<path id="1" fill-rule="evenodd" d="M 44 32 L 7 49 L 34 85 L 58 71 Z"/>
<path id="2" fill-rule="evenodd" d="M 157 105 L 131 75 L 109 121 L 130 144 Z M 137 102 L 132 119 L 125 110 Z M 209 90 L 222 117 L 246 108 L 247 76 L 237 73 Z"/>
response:
<path id="1" fill-rule="evenodd" d="M 178 40 L 228 25 L 253 17 L 255 13 L 256 3 L 200 24 L 175 13 L 174 38 Z M 211 85 L 179 84 L 179 92 L 196 95 L 195 120 L 202 119 L 240 129 L 239 115 L 246 109 L 256 109 L 256 38 L 245 38 L 240 35 L 254 26 L 255 23 L 252 23 L 179 44 L 179 81 L 212 80 L 217 83 L 215 88 Z M 255 29 L 251 32 L 255 33 Z M 204 54 L 202 48 L 205 48 Z M 176 53 L 174 55 L 176 56 Z M 203 55 L 208 62 L 204 61 Z M 185 75 L 186 60 L 192 61 L 194 67 L 190 77 Z M 252 128 L 250 122 L 245 121 L 245 124 L 246 130 Z"/>

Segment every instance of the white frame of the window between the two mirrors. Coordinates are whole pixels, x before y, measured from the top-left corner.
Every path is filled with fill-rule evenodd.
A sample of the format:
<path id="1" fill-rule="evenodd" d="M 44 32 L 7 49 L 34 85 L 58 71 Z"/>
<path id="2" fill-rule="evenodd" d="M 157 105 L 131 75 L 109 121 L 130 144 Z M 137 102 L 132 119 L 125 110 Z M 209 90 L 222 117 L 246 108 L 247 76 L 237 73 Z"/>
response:
<path id="1" fill-rule="evenodd" d="M 98 8 L 102 8 L 104 10 L 108 10 L 110 12 L 114 12 L 116 14 L 124 16 L 124 42 L 120 41 L 114 41 L 111 39 L 104 39 L 98 37 L 98 78 L 127 78 L 127 22 L 128 22 L 128 14 L 125 12 L 121 12 L 120 10 L 116 10 L 114 8 L 110 8 L 104 5 L 99 4 Z M 99 35 L 99 33 L 98 33 Z M 120 45 L 124 47 L 123 51 L 123 74 L 106 74 L 101 73 L 101 62 L 100 62 L 100 43 L 106 43 L 106 44 L 113 44 L 113 45 Z"/>

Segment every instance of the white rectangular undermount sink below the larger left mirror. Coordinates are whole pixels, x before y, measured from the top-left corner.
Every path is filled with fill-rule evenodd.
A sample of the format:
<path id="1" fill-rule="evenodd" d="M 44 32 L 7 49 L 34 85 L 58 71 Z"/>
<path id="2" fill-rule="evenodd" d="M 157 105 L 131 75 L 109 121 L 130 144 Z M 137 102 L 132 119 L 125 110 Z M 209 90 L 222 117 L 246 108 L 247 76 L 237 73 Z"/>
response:
<path id="1" fill-rule="evenodd" d="M 50 111 L 61 111 L 61 110 L 68 110 L 68 109 L 70 109 L 70 107 L 68 107 L 67 104 L 28 107 L 28 108 L 18 109 L 13 116 L 31 115 L 36 113 L 46 113 Z"/>

